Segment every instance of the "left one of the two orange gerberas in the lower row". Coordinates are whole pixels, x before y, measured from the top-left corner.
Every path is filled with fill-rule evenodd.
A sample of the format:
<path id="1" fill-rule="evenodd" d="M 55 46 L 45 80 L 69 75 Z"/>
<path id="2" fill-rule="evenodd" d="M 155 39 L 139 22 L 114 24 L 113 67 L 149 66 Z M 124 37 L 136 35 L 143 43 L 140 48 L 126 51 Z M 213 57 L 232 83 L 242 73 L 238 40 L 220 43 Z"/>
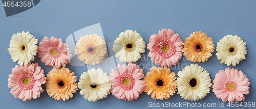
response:
<path id="1" fill-rule="evenodd" d="M 77 83 L 74 72 L 70 73 L 69 68 L 60 67 L 53 68 L 46 79 L 46 92 L 48 95 L 56 100 L 68 100 L 73 98 L 72 93 L 76 93 Z"/>

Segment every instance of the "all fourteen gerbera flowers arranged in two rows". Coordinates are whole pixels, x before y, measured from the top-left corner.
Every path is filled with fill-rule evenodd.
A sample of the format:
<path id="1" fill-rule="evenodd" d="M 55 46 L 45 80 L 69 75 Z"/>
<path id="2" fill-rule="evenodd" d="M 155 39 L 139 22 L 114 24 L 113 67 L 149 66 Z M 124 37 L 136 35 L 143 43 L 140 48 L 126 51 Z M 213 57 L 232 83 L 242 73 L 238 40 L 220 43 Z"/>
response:
<path id="1" fill-rule="evenodd" d="M 184 99 L 199 100 L 209 93 L 211 86 L 212 91 L 223 101 L 241 101 L 244 100 L 244 94 L 249 94 L 248 78 L 237 69 L 221 70 L 216 74 L 212 85 L 209 73 L 197 64 L 191 64 L 178 72 L 176 80 L 175 73 L 170 72 L 167 66 L 176 65 L 182 54 L 191 62 L 205 62 L 212 56 L 211 52 L 215 48 L 213 41 L 201 31 L 191 34 L 184 43 L 173 30 L 163 29 L 159 31 L 159 35 L 152 35 L 147 44 L 147 49 L 150 50 L 148 56 L 161 67 L 151 68 L 146 76 L 139 66 L 132 64 L 140 59 L 140 53 L 145 52 L 145 41 L 136 31 L 122 32 L 115 40 L 113 50 L 121 62 L 129 63 L 127 67 L 118 65 L 118 71 L 112 70 L 110 78 L 100 69 L 88 70 L 81 74 L 78 84 L 75 83 L 77 78 L 74 73 L 65 68 L 72 57 L 68 44 L 55 37 L 45 37 L 37 47 L 37 41 L 29 32 L 17 33 L 12 36 L 8 48 L 13 61 L 18 61 L 19 64 L 9 75 L 8 87 L 12 87 L 11 94 L 15 98 L 24 101 L 38 98 L 44 91 L 41 85 L 45 83 L 48 95 L 57 100 L 72 98 L 77 87 L 81 89 L 80 94 L 89 101 L 102 99 L 110 92 L 118 99 L 134 100 L 143 91 L 151 94 L 153 99 L 168 99 L 178 91 Z M 228 66 L 239 64 L 245 59 L 245 44 L 236 35 L 223 37 L 216 49 L 220 63 L 225 62 Z M 54 67 L 47 77 L 37 63 L 31 64 L 37 50 L 40 60 L 45 65 Z M 82 36 L 76 43 L 75 53 L 85 64 L 99 64 L 106 52 L 105 41 L 96 34 Z"/>

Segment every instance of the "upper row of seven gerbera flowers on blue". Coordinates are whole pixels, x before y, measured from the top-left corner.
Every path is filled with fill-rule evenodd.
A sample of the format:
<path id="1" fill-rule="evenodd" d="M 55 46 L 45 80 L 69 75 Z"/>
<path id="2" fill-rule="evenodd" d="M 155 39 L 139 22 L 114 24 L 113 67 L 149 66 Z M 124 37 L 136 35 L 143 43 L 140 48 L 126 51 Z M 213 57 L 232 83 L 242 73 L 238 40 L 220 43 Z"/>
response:
<path id="1" fill-rule="evenodd" d="M 150 50 L 148 56 L 151 57 L 153 63 L 162 67 L 176 65 L 182 53 L 191 62 L 205 62 L 212 56 L 211 52 L 215 49 L 211 39 L 199 31 L 191 34 L 183 43 L 179 34 L 175 34 L 170 29 L 163 29 L 159 31 L 159 35 L 151 36 L 147 44 L 147 49 Z M 13 62 L 18 61 L 20 65 L 28 64 L 34 61 L 38 50 L 38 57 L 47 66 L 59 68 L 69 63 L 72 57 L 71 50 L 68 44 L 62 43 L 61 39 L 45 37 L 39 43 L 38 48 L 35 45 L 37 41 L 29 32 L 14 34 L 10 41 L 10 48 L 8 48 Z M 243 42 L 242 38 L 237 35 L 227 35 L 217 43 L 217 58 L 221 60 L 220 63 L 236 66 L 245 59 L 247 53 L 245 45 L 246 42 Z M 113 50 L 121 62 L 130 63 L 140 59 L 140 53 L 145 52 L 145 47 L 145 41 L 139 33 L 127 30 L 116 38 Z M 99 64 L 107 53 L 106 43 L 101 36 L 96 34 L 82 36 L 76 43 L 75 53 L 78 59 L 85 64 Z"/>

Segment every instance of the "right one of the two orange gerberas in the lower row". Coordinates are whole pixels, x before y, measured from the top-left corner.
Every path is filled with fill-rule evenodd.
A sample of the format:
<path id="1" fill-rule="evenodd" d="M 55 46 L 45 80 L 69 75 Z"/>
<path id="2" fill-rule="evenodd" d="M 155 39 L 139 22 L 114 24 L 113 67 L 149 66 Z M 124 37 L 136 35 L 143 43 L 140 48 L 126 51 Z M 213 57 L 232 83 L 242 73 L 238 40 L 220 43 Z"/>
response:
<path id="1" fill-rule="evenodd" d="M 147 95 L 151 94 L 153 99 L 168 99 L 174 95 L 176 89 L 177 80 L 175 73 L 170 72 L 167 67 L 152 67 L 150 71 L 144 76 L 143 81 L 146 83 L 144 89 Z"/>

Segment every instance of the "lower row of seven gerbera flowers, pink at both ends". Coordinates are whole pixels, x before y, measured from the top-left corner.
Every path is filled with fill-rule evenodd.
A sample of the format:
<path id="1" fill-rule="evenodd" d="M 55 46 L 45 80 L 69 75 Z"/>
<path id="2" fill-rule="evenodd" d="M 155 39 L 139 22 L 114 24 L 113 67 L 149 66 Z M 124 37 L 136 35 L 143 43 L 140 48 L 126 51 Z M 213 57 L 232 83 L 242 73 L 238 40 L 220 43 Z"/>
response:
<path id="1" fill-rule="evenodd" d="M 40 97 L 44 91 L 41 85 L 45 83 L 48 95 L 63 101 L 72 98 L 77 88 L 91 102 L 106 98 L 110 92 L 118 99 L 129 101 L 137 99 L 143 91 L 153 99 L 161 100 L 170 98 L 178 91 L 181 98 L 196 101 L 204 98 L 210 92 L 210 87 L 223 102 L 242 101 L 244 94 L 249 94 L 249 79 L 241 70 L 229 67 L 216 74 L 212 81 L 214 85 L 211 84 L 209 73 L 198 64 L 186 66 L 178 72 L 178 78 L 167 67 L 154 66 L 146 76 L 138 65 L 132 63 L 127 66 L 118 64 L 117 69 L 108 76 L 101 69 L 92 68 L 81 74 L 77 84 L 76 76 L 68 68 L 53 68 L 45 77 L 44 70 L 37 63 L 28 63 L 12 69 L 8 87 L 12 87 L 11 94 L 15 98 L 24 101 Z"/>

